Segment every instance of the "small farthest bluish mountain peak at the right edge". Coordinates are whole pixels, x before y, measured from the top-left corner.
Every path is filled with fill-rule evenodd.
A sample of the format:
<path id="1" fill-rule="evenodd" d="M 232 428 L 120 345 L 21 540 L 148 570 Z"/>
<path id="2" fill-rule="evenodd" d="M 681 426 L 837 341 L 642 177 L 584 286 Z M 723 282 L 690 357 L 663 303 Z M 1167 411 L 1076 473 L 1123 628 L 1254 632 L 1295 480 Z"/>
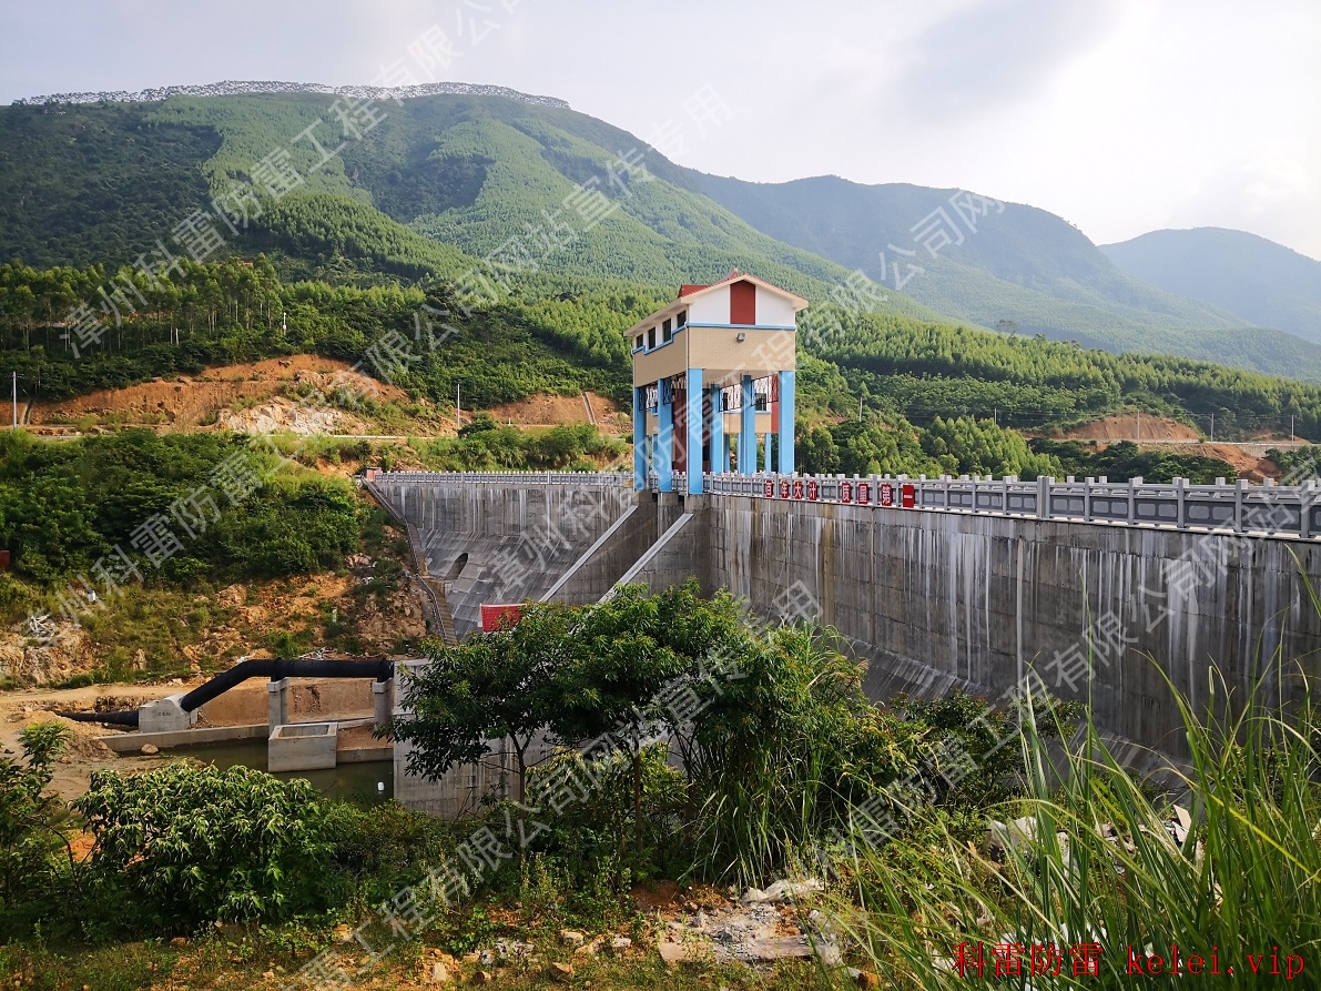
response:
<path id="1" fill-rule="evenodd" d="M 1321 262 L 1238 230 L 1157 230 L 1100 248 L 1128 275 L 1321 342 Z"/>

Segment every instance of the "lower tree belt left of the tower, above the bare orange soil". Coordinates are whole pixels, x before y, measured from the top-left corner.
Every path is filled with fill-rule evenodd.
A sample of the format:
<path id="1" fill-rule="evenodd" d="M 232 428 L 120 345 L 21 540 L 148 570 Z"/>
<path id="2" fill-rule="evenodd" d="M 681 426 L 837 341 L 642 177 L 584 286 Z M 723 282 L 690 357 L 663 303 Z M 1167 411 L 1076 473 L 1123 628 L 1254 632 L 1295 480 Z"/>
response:
<path id="1" fill-rule="evenodd" d="M 98 287 L 132 277 L 147 305 L 123 320 L 96 309 Z M 123 283 L 119 283 L 123 285 Z M 626 398 L 627 349 L 621 332 L 657 303 L 637 287 L 560 285 L 556 295 L 520 291 L 466 314 L 444 284 L 395 283 L 358 288 L 324 281 L 281 283 L 263 256 L 252 263 L 181 263 L 159 288 L 128 270 L 37 271 L 0 266 L 0 367 L 22 377 L 26 398 L 59 399 L 123 387 L 157 375 L 273 355 L 313 353 L 362 363 L 410 395 L 491 407 L 536 392 Z M 103 321 L 98 341 L 82 341 L 61 322 L 75 303 Z M 287 326 L 287 330 L 284 329 Z M 172 332 L 178 344 L 170 344 Z"/>

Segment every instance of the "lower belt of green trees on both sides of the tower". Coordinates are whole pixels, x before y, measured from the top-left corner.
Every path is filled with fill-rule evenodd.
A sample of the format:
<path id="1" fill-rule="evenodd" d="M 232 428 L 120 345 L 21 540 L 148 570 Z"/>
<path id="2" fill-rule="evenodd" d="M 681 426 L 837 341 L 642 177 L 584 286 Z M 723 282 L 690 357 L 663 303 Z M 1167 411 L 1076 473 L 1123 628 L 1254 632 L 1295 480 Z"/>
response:
<path id="1" fill-rule="evenodd" d="M 0 348 L 25 398 L 62 398 L 211 365 L 312 353 L 358 365 L 415 400 L 449 404 L 456 383 L 489 408 L 536 392 L 589 388 L 629 398 L 621 332 L 662 289 L 602 280 L 532 281 L 468 309 L 443 280 L 408 285 L 285 281 L 264 256 L 186 262 L 132 291 L 145 301 L 96 342 L 62 326 L 98 285 L 127 285 L 124 268 L 0 266 Z M 917 424 L 976 416 L 1018 428 L 1061 427 L 1123 408 L 1188 419 L 1215 414 L 1229 439 L 1279 429 L 1321 432 L 1321 388 L 1186 358 L 1114 355 L 1024 336 L 856 313 L 822 304 L 803 316 L 804 412 L 847 415 L 861 400 Z"/>

